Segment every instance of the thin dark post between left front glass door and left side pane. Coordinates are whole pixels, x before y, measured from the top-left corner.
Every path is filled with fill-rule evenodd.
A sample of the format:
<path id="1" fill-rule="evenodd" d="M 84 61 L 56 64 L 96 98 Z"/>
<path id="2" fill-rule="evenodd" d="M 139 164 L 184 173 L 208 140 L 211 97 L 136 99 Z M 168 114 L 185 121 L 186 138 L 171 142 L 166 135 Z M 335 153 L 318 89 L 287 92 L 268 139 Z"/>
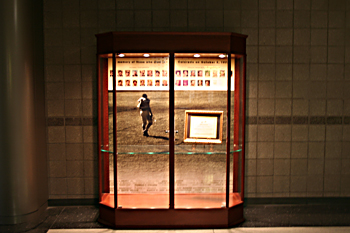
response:
<path id="1" fill-rule="evenodd" d="M 117 80 L 116 80 L 116 59 L 113 53 L 113 177 L 114 177 L 114 208 L 118 208 L 118 182 L 117 182 Z"/>

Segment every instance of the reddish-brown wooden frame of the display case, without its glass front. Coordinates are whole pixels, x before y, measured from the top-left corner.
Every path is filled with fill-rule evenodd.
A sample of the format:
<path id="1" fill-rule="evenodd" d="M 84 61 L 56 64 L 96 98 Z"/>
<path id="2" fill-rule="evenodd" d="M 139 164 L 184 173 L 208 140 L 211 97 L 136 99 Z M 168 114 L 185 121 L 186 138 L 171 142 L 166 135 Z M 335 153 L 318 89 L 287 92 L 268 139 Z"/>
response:
<path id="1" fill-rule="evenodd" d="M 246 35 L 237 33 L 203 33 L 203 32 L 108 32 L 97 34 L 98 60 L 98 154 L 99 154 L 99 222 L 113 228 L 227 228 L 244 221 L 244 167 L 245 167 L 245 76 L 246 76 Z M 104 193 L 109 190 L 108 147 L 101 150 L 106 141 L 103 127 L 106 124 L 106 108 L 103 99 L 108 99 L 108 84 L 101 81 L 100 75 L 108 76 L 108 69 L 100 64 L 101 57 L 113 58 L 113 122 L 116 122 L 116 66 L 115 59 L 120 53 L 167 53 L 169 54 L 169 200 L 168 208 L 118 208 L 117 195 L 117 150 L 114 156 L 114 189 L 116 195 L 110 195 L 114 206 L 104 201 Z M 226 192 L 225 205 L 221 208 L 175 208 L 175 145 L 174 145 L 174 55 L 175 53 L 223 53 L 227 54 L 227 70 L 231 70 L 231 58 L 235 59 L 235 92 L 233 132 L 227 130 L 226 138 Z M 239 68 L 241 67 L 241 69 Z M 227 78 L 227 93 L 231 90 L 231 78 Z M 108 108 L 108 106 L 107 106 Z M 231 122 L 231 94 L 227 94 L 226 120 Z M 208 114 L 204 113 L 204 114 Z M 221 123 L 222 124 L 222 120 Z M 228 124 L 229 125 L 229 124 Z M 114 127 L 115 128 L 115 127 Z M 220 125 L 220 130 L 222 126 Z M 116 131 L 113 132 L 114 145 L 117 145 Z M 218 140 L 222 140 L 220 137 Z M 233 152 L 232 152 L 233 148 Z M 233 167 L 230 167 L 230 155 L 233 154 Z M 233 171 L 233 184 L 230 184 L 230 171 Z M 233 186 L 234 193 L 230 193 Z M 236 192 L 236 193 L 235 193 Z"/>

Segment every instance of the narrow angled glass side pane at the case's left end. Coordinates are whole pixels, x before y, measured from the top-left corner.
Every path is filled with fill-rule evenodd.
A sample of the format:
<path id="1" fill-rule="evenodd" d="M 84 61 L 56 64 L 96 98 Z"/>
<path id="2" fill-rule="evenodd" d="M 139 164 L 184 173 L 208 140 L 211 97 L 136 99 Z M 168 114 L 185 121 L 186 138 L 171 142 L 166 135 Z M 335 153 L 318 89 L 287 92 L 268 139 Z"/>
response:
<path id="1" fill-rule="evenodd" d="M 112 58 L 112 55 L 99 56 L 99 144 L 101 146 L 100 151 L 100 203 L 114 208 L 114 190 L 113 190 L 113 154 L 109 151 L 113 150 L 110 147 L 113 143 L 113 122 L 109 119 L 113 117 L 113 111 L 109 111 L 110 99 L 108 96 L 108 83 L 109 78 L 113 78 L 113 70 L 110 73 L 108 69 L 108 60 Z M 111 76 L 112 75 L 112 76 Z M 112 79 L 113 81 L 113 79 Z M 112 166 L 111 166 L 112 165 Z"/>

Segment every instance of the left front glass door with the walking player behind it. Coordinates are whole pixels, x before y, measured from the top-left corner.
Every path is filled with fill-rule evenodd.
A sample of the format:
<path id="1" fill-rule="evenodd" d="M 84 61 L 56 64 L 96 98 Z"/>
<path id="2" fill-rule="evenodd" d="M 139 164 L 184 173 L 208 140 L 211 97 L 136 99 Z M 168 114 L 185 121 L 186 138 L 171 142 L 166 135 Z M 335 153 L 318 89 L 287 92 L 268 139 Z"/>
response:
<path id="1" fill-rule="evenodd" d="M 169 55 L 118 54 L 116 72 L 118 208 L 169 208 Z"/>

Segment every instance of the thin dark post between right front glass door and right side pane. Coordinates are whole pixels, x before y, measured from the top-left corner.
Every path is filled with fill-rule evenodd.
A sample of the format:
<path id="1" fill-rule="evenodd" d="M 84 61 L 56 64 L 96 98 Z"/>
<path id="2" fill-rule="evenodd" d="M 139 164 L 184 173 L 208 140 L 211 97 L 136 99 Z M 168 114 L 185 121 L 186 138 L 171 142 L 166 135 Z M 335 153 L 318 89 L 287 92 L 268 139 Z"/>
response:
<path id="1" fill-rule="evenodd" d="M 230 206 L 230 155 L 231 155 L 231 53 L 227 56 L 227 106 L 226 106 L 226 208 Z"/>

